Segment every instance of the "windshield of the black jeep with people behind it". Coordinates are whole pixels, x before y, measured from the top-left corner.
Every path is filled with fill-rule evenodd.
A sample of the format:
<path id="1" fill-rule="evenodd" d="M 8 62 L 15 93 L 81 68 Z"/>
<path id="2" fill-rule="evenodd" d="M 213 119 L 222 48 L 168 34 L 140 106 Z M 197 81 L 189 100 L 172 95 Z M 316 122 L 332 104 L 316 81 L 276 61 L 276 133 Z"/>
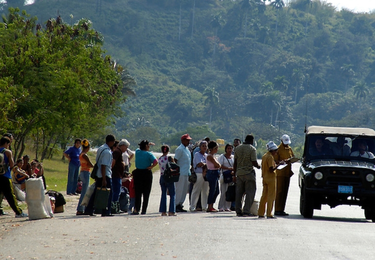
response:
<path id="1" fill-rule="evenodd" d="M 310 134 L 306 138 L 305 158 L 314 160 L 375 161 L 375 136 Z"/>

